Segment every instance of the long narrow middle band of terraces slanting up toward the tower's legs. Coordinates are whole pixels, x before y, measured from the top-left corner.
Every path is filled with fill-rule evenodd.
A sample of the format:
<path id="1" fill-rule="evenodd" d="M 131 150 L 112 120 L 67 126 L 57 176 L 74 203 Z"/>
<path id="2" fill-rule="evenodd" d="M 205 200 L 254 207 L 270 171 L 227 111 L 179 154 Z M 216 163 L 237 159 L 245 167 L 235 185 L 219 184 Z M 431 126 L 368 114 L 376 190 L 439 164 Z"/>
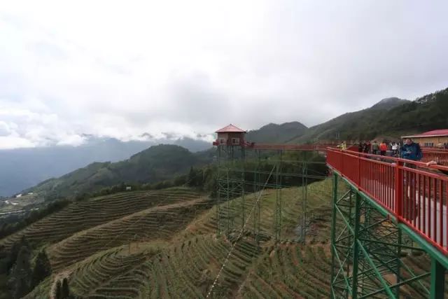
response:
<path id="1" fill-rule="evenodd" d="M 52 268 L 59 270 L 98 251 L 131 242 L 171 239 L 209 207 L 204 199 L 166 204 L 83 230 L 50 247 Z"/>

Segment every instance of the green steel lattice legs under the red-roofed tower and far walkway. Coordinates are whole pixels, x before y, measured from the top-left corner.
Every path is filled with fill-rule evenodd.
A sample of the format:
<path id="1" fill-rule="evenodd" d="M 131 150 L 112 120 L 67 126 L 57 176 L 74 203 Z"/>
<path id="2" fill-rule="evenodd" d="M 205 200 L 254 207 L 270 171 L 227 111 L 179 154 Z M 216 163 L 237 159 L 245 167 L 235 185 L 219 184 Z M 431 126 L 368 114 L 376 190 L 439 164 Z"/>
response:
<path id="1" fill-rule="evenodd" d="M 298 174 L 288 174 L 283 172 L 283 150 L 266 150 L 270 153 L 275 153 L 277 159 L 273 160 L 272 165 L 274 168 L 272 172 L 267 172 L 266 170 L 260 169 L 261 162 L 261 149 L 249 150 L 252 154 L 251 161 L 255 162 L 255 169 L 246 169 L 246 153 L 248 149 L 244 146 L 228 146 L 220 145 L 217 146 L 218 153 L 218 178 L 217 178 L 217 233 L 218 235 L 225 234 L 230 237 L 232 232 L 241 230 L 242 227 L 236 227 L 235 223 L 240 222 L 241 225 L 244 223 L 246 214 L 245 202 L 247 200 L 253 201 L 255 204 L 255 209 L 253 209 L 253 215 L 251 218 L 251 228 L 250 232 L 253 234 L 255 239 L 260 241 L 262 238 L 262 231 L 260 229 L 260 205 L 261 201 L 257 200 L 257 194 L 263 188 L 271 188 L 275 190 L 275 208 L 274 208 L 274 237 L 275 242 L 281 241 L 282 238 L 282 188 L 286 186 L 283 185 L 283 178 L 288 176 L 296 176 L 302 178 L 302 215 L 297 215 L 300 218 L 301 231 L 300 231 L 300 242 L 304 244 L 306 237 L 306 224 L 307 224 L 307 181 L 309 178 L 312 179 L 325 179 L 325 175 L 310 175 L 307 172 L 307 160 L 300 161 L 302 165 L 302 172 Z M 306 155 L 305 155 L 306 157 Z M 323 163 L 322 163 L 323 164 Z M 244 174 L 252 172 L 253 181 L 245 181 Z M 267 179 L 271 178 L 272 183 L 267 183 Z M 251 186 L 253 188 L 253 194 L 246 193 L 246 186 Z M 298 196 L 298 194 L 297 194 Z M 241 197 L 241 204 L 237 204 L 232 199 L 236 197 Z M 242 218 L 242 221 L 235 221 L 237 218 Z M 248 230 L 248 228 L 246 228 Z"/>

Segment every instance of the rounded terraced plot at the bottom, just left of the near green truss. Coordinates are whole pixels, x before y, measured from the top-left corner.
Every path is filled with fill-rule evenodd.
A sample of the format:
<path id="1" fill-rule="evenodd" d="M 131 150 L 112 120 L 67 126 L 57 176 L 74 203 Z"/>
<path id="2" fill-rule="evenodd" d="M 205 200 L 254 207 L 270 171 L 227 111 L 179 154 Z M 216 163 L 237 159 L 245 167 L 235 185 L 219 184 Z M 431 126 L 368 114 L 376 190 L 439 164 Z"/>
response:
<path id="1" fill-rule="evenodd" d="M 259 258 L 241 286 L 243 298 L 330 298 L 328 246 L 280 246 Z"/>

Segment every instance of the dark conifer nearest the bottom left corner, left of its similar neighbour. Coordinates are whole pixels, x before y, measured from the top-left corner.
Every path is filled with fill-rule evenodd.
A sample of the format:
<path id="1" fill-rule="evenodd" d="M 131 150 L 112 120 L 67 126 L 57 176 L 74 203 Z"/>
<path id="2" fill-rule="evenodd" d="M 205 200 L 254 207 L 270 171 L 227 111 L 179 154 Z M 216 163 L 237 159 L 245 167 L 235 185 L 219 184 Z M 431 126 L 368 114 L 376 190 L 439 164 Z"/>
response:
<path id="1" fill-rule="evenodd" d="M 22 246 L 17 260 L 10 272 L 9 285 L 13 292 L 13 298 L 22 298 L 31 287 L 31 265 L 29 263 L 30 251 L 27 246 Z"/>

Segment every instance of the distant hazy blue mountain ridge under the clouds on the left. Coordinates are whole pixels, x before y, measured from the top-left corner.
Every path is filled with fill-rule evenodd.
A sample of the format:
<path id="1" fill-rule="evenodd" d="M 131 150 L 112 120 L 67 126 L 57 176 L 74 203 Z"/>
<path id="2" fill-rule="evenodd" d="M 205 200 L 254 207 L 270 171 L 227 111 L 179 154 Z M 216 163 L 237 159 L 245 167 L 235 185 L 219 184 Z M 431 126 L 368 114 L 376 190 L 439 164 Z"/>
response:
<path id="1" fill-rule="evenodd" d="M 45 146 L 0 150 L 0 195 L 10 196 L 46 179 L 62 176 L 92 162 L 118 162 L 157 144 L 176 144 L 192 152 L 211 145 L 184 137 L 176 140 L 120 141 L 83 135 L 80 146 Z M 148 138 L 152 138 L 148 136 Z"/>

